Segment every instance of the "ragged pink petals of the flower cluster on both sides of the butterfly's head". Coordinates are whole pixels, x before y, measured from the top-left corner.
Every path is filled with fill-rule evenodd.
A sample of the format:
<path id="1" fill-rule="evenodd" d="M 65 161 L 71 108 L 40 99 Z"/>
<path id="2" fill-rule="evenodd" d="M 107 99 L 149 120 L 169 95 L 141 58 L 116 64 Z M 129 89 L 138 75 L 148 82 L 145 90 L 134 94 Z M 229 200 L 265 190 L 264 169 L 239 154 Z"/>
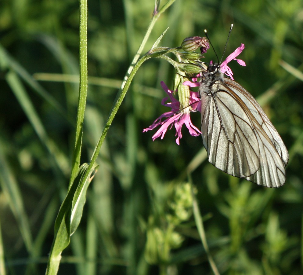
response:
<path id="1" fill-rule="evenodd" d="M 232 54 L 230 54 L 220 65 L 220 70 L 225 75 L 229 76 L 231 79 L 233 79 L 233 72 L 227 66 L 227 64 L 231 60 L 236 60 L 241 66 L 245 66 L 245 62 L 241 59 L 236 59 L 236 57 L 243 51 L 244 44 L 241 44 L 240 47 L 238 47 Z M 201 74 L 197 75 L 197 77 L 200 77 Z M 182 85 L 186 85 L 189 87 L 197 87 L 200 86 L 200 82 L 197 81 L 197 78 L 193 78 L 192 81 L 184 81 Z M 161 139 L 164 138 L 164 135 L 168 129 L 171 129 L 172 126 L 175 126 L 176 134 L 177 136 L 176 143 L 180 144 L 180 138 L 182 138 L 181 129 L 183 124 L 187 127 L 189 130 L 189 134 L 192 136 L 199 136 L 201 134 L 200 130 L 193 125 L 190 119 L 190 112 L 201 112 L 201 101 L 200 101 L 200 95 L 199 92 L 193 92 L 190 91 L 190 96 L 187 98 L 187 102 L 182 102 L 182 99 L 177 100 L 173 93 L 174 91 L 169 90 L 168 87 L 165 85 L 165 83 L 162 81 L 161 86 L 165 93 L 168 95 L 168 97 L 163 98 L 161 104 L 167 107 L 171 108 L 171 111 L 165 112 L 161 116 L 159 116 L 153 124 L 143 129 L 143 132 L 147 132 L 149 130 L 153 130 L 156 127 L 160 126 L 159 130 L 153 135 L 153 141 L 156 138 L 161 137 Z M 171 100 L 171 102 L 167 102 L 168 98 Z M 188 107 L 182 107 L 182 106 L 188 106 Z M 180 108 L 181 107 L 181 108 Z M 165 118 L 165 119 L 164 119 Z"/>

